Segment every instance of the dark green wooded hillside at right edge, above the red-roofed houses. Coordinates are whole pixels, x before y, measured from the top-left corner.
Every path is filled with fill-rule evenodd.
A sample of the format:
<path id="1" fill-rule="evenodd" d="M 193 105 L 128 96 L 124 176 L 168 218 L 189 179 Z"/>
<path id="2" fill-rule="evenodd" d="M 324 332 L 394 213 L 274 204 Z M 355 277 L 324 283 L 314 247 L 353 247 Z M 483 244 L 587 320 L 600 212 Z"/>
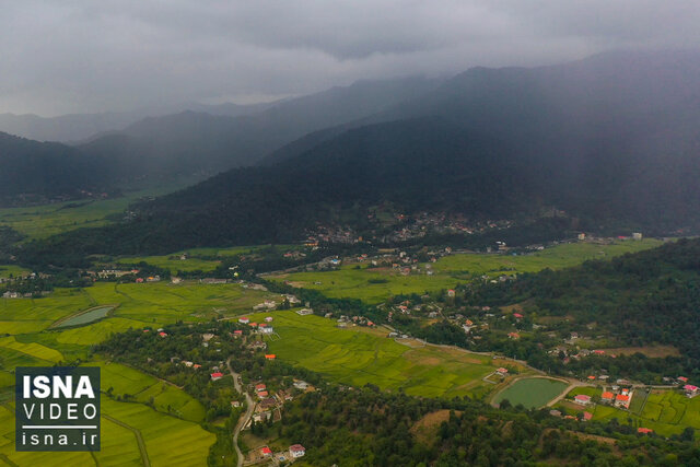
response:
<path id="1" fill-rule="evenodd" d="M 680 240 L 608 261 L 485 284 L 468 292 L 467 300 L 479 305 L 520 304 L 527 316 L 561 323 L 561 332 L 595 329 L 618 347 L 673 346 L 685 370 L 695 373 L 700 362 L 699 258 L 700 240 Z"/>

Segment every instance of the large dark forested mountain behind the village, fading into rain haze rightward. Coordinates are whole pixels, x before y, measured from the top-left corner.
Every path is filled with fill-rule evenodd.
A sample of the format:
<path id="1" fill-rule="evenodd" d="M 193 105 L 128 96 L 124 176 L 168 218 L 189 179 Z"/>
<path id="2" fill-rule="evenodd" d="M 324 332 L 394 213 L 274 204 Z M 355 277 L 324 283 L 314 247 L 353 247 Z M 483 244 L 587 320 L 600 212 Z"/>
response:
<path id="1" fill-rule="evenodd" d="M 77 235 L 82 253 L 289 242 L 319 223 L 369 229 L 383 205 L 472 220 L 563 210 L 591 230 L 698 229 L 698 71 L 695 52 L 472 69 L 306 135 L 259 166 L 136 206 L 136 222 Z"/>

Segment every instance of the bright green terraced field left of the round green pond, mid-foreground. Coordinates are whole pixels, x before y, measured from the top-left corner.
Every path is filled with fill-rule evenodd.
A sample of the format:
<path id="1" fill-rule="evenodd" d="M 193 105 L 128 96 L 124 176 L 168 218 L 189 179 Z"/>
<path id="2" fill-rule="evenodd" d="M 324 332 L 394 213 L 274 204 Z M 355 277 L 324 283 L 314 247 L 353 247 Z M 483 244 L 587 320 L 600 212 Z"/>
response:
<path id="1" fill-rule="evenodd" d="M 410 348 L 387 339 L 386 330 L 340 329 L 335 324 L 319 316 L 275 312 L 275 330 L 281 339 L 268 342 L 270 352 L 339 383 L 371 383 L 416 396 L 480 396 L 487 385 L 481 378 L 495 369 L 489 355 L 433 346 Z"/>

